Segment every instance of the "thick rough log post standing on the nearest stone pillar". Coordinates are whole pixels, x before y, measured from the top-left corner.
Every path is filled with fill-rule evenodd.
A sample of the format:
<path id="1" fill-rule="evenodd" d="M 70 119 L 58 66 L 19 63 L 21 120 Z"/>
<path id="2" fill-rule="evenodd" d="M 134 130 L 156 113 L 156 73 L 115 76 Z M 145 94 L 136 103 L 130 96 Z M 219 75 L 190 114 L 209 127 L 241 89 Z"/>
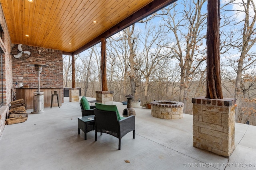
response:
<path id="1" fill-rule="evenodd" d="M 220 0 L 208 0 L 206 98 L 222 99 L 220 76 Z"/>

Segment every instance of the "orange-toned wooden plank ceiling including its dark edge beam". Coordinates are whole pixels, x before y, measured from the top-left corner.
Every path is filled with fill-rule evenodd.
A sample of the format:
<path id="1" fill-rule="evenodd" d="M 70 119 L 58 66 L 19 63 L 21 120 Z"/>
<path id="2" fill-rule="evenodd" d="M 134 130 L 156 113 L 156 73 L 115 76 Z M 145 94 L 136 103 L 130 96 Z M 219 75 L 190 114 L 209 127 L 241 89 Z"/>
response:
<path id="1" fill-rule="evenodd" d="M 75 55 L 98 43 L 100 38 L 110 37 L 174 1 L 0 0 L 0 3 L 13 44 L 58 49 Z"/>

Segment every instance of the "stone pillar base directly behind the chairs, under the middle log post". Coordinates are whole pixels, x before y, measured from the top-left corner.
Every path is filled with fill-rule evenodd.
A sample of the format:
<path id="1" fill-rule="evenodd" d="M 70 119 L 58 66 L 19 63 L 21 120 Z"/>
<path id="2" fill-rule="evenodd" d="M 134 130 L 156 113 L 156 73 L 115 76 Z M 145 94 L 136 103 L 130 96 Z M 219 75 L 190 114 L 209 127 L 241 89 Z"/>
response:
<path id="1" fill-rule="evenodd" d="M 96 100 L 98 103 L 113 105 L 114 101 L 113 91 L 96 91 Z"/>

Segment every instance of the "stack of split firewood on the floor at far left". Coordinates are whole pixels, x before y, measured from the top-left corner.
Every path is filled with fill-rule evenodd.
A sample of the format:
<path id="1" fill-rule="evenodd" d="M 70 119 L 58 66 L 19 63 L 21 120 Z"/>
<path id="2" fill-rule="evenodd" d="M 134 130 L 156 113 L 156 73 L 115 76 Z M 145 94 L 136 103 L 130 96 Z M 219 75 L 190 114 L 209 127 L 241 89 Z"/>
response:
<path id="1" fill-rule="evenodd" d="M 9 110 L 9 118 L 6 119 L 5 124 L 11 125 L 14 123 L 21 123 L 28 119 L 28 113 L 26 113 L 26 104 L 23 99 L 10 102 L 11 107 Z"/>

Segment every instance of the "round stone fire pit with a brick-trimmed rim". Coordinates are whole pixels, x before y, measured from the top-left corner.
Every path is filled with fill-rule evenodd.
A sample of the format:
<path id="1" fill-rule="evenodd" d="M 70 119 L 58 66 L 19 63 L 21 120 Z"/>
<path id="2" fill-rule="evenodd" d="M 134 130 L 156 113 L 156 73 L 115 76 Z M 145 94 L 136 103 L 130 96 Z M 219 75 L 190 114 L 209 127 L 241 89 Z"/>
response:
<path id="1" fill-rule="evenodd" d="M 181 119 L 183 117 L 182 102 L 159 100 L 150 102 L 151 115 L 161 119 Z"/>

